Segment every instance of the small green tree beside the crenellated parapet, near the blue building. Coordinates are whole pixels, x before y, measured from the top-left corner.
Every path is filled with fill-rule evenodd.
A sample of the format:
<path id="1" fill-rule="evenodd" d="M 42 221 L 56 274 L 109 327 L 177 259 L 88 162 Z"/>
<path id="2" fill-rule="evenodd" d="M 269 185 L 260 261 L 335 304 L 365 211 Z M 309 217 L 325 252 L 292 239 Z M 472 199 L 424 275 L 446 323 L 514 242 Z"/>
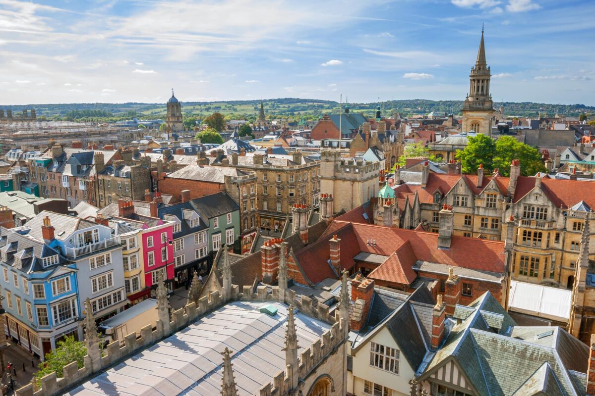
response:
<path id="1" fill-rule="evenodd" d="M 40 369 L 33 375 L 37 381 L 37 385 L 41 385 L 41 379 L 54 371 L 58 377 L 63 377 L 64 366 L 75 360 L 79 369 L 82 368 L 86 354 L 87 347 L 81 341 L 75 341 L 74 335 L 69 335 L 64 340 L 58 341 L 57 348 L 46 354 L 45 362 L 40 364 Z"/>

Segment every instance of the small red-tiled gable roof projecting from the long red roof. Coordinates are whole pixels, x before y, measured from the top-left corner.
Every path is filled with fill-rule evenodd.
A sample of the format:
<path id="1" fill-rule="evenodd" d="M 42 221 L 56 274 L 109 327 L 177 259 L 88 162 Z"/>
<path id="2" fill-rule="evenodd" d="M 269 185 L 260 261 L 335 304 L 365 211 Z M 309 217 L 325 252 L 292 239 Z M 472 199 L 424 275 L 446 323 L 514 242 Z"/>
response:
<path id="1" fill-rule="evenodd" d="M 417 278 L 413 270 L 415 262 L 417 262 L 417 256 L 411 242 L 407 241 L 375 268 L 368 278 L 409 285 Z"/>

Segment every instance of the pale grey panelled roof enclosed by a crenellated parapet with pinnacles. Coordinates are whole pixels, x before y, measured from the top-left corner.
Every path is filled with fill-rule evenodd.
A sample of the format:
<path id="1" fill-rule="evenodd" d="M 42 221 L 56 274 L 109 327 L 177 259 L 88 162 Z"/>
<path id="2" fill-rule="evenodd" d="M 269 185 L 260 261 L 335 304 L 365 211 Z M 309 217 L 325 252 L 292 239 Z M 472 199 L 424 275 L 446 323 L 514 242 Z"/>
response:
<path id="1" fill-rule="evenodd" d="M 261 313 L 263 305 L 278 311 L 274 316 Z M 295 312 L 300 356 L 330 325 Z M 280 303 L 228 303 L 67 395 L 220 394 L 225 347 L 232 351 L 238 394 L 259 394 L 262 385 L 285 368 L 286 322 L 287 306 Z"/>

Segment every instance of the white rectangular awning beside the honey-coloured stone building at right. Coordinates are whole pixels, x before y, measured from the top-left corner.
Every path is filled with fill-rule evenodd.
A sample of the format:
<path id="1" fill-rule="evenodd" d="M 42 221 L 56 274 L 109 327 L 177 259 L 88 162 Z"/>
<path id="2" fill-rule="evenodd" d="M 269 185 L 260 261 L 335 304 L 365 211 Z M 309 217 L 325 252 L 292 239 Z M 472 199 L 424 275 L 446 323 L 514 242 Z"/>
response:
<path id="1" fill-rule="evenodd" d="M 568 322 L 572 290 L 511 281 L 509 310 L 540 318 Z"/>

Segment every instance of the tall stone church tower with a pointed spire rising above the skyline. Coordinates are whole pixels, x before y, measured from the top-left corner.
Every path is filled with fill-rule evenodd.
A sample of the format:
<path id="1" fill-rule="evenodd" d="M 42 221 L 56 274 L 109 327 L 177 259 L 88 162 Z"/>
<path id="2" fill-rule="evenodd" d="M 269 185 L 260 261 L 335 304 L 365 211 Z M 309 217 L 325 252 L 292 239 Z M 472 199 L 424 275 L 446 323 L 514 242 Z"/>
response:
<path id="1" fill-rule="evenodd" d="M 477 61 L 469 75 L 469 93 L 463 104 L 462 132 L 478 132 L 491 136 L 494 123 L 494 103 L 490 94 L 490 66 L 486 62 L 486 48 L 481 28 L 480 49 Z"/>

